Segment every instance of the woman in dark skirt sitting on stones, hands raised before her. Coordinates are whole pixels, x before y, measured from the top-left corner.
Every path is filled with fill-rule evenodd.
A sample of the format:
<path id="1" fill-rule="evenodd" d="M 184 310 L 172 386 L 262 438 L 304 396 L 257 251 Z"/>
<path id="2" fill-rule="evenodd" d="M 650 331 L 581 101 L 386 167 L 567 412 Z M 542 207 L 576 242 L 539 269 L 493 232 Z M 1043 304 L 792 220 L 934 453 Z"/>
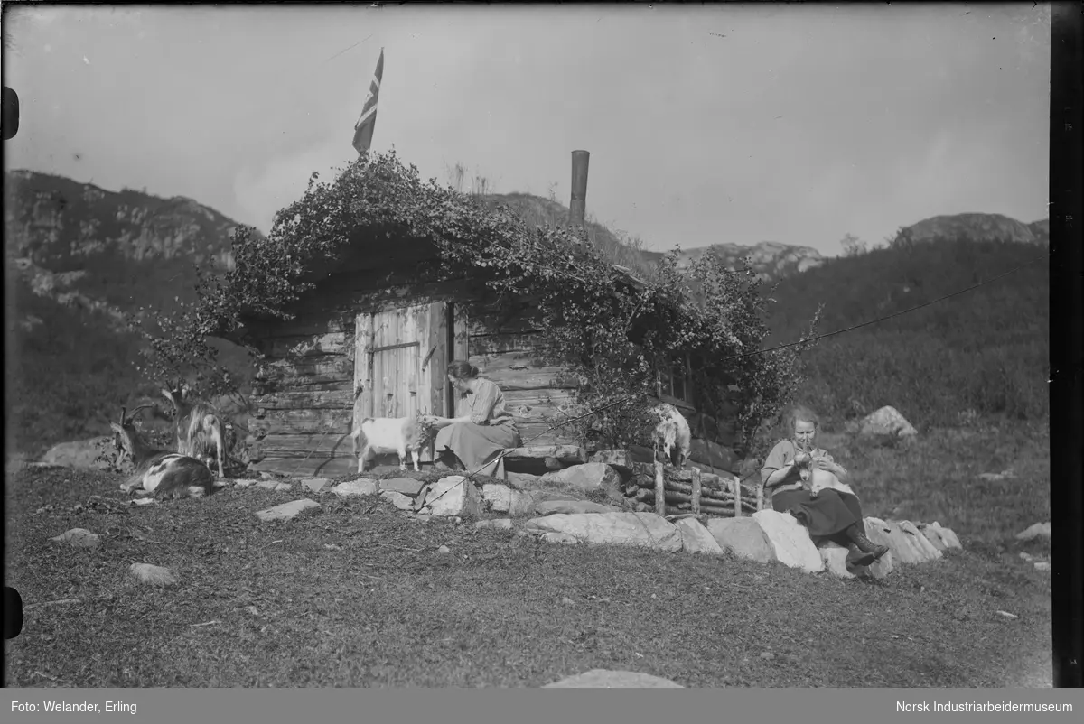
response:
<path id="1" fill-rule="evenodd" d="M 764 488 L 774 491 L 772 507 L 798 518 L 814 542 L 826 538 L 848 547 L 847 563 L 868 566 L 888 553 L 888 547 L 866 538 L 859 499 L 833 488 L 812 493 L 809 483 L 802 480 L 799 466 L 806 463 L 828 470 L 841 482 L 846 483 L 849 477 L 831 455 L 813 447 L 820 424 L 816 414 L 808 408 L 795 408 L 786 419 L 791 439 L 782 440 L 772 449 L 760 471 Z"/>

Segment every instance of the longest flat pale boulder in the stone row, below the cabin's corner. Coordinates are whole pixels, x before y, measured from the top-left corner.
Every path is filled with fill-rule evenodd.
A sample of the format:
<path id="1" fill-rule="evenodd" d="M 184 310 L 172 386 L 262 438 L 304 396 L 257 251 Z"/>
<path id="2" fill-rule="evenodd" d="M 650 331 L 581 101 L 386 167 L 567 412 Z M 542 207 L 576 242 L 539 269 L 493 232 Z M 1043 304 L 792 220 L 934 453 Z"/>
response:
<path id="1" fill-rule="evenodd" d="M 568 533 L 584 543 L 635 545 L 667 553 L 682 548 L 678 528 L 654 513 L 558 513 L 532 518 L 524 530 L 532 534 Z"/>

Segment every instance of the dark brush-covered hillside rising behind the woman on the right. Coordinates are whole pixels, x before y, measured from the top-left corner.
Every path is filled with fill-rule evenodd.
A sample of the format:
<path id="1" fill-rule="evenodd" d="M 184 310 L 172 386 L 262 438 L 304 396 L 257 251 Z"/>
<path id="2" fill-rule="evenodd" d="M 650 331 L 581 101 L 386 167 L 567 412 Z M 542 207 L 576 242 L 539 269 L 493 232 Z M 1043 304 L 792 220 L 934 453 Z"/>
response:
<path id="1" fill-rule="evenodd" d="M 1042 255 L 1034 244 L 941 241 L 833 259 L 783 280 L 770 344 L 796 340 L 824 303 L 821 333 L 887 316 Z M 901 316 L 821 340 L 806 353 L 803 398 L 837 418 L 886 404 L 917 426 L 962 414 L 1048 414 L 1049 268 L 1019 272 Z"/>

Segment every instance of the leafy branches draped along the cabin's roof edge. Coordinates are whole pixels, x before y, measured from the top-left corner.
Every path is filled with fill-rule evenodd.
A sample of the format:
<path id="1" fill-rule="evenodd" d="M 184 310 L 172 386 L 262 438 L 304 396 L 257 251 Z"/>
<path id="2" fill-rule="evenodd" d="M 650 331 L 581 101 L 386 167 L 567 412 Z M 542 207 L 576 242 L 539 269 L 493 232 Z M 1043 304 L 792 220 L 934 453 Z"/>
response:
<path id="1" fill-rule="evenodd" d="M 741 390 L 743 430 L 773 414 L 800 383 L 796 348 L 743 357 L 760 350 L 767 335 L 765 300 L 749 269 L 734 272 L 706 255 L 680 273 L 675 253 L 654 279 L 634 280 L 610 262 L 612 250 L 586 243 L 582 232 L 531 224 L 506 206 L 490 208 L 435 180 L 424 183 L 393 152 L 363 156 L 334 182 L 318 178 L 279 211 L 267 238 L 235 231 L 234 269 L 201 273 L 195 302 L 156 313 L 162 334 L 150 336 L 144 365 L 153 378 L 194 372 L 197 389 L 234 391 L 208 337 L 243 334 L 244 316 L 291 319 L 291 306 L 315 287 L 319 274 L 310 272 L 333 269 L 364 229 L 371 238 L 434 245 L 436 257 L 416 270 L 420 282 L 483 275 L 488 298 L 473 316 L 494 305 L 531 308 L 540 353 L 581 382 L 569 412 L 625 403 L 607 409 L 602 423 L 577 421 L 581 437 L 643 441 L 656 375 L 685 359 L 709 413 L 723 408 L 727 386 Z"/>

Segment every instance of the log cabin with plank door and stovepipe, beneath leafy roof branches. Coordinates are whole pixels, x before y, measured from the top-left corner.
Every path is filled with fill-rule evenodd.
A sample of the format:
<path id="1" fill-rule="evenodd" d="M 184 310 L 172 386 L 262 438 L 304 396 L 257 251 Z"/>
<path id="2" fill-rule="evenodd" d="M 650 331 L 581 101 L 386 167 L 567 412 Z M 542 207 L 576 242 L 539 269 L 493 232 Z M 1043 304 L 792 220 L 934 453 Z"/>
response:
<path id="1" fill-rule="evenodd" d="M 580 225 L 586 161 L 586 152 L 572 153 L 570 218 Z M 459 413 L 462 400 L 447 379 L 448 364 L 456 359 L 469 360 L 505 395 L 525 444 L 506 458 L 509 470 L 537 470 L 541 460 L 550 467 L 555 461 L 588 461 L 591 451 L 582 441 L 562 428 L 549 430 L 565 418 L 560 410 L 579 383 L 567 369 L 539 359 L 529 301 L 500 307 L 487 296 L 486 270 L 425 281 L 416 270 L 435 257 L 435 246 L 424 238 L 387 238 L 382 230 L 359 228 L 345 258 L 307 271 L 317 288 L 287 310 L 293 319 L 242 318 L 244 331 L 233 339 L 263 355 L 248 423 L 250 470 L 354 473 L 349 435 L 362 418 Z M 627 268 L 615 269 L 625 283 L 642 284 Z M 691 418 L 697 438 L 687 370 L 681 366 L 660 376 L 657 397 Z M 733 469 L 733 425 L 720 423 L 708 440 L 694 439 L 692 460 Z M 643 458 L 645 451 L 638 454 Z M 433 462 L 429 451 L 422 462 Z"/>

